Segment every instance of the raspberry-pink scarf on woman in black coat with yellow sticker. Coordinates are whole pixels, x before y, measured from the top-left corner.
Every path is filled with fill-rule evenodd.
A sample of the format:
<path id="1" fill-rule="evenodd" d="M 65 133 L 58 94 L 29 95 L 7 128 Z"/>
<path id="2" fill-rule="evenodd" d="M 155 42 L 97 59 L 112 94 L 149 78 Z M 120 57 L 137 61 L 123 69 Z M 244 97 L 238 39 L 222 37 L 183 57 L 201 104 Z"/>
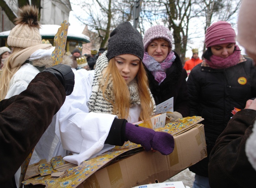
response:
<path id="1" fill-rule="evenodd" d="M 225 68 L 232 67 L 232 66 L 236 65 L 237 63 L 239 63 L 241 51 L 237 45 L 235 45 L 235 46 L 236 46 L 236 50 L 233 52 L 232 55 L 230 55 L 226 58 L 212 55 L 210 58 L 211 61 L 205 59 L 206 63 L 213 69 L 225 69 Z M 237 50 L 239 50 L 239 51 L 237 51 Z"/>

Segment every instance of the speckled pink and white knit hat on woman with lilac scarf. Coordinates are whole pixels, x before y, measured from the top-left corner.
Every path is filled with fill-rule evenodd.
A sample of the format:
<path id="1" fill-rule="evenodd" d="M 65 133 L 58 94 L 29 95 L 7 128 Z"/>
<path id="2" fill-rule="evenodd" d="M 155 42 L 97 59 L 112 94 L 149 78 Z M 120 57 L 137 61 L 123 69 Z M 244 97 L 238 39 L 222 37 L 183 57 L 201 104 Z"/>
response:
<path id="1" fill-rule="evenodd" d="M 143 46 L 144 51 L 147 51 L 147 46 L 149 46 L 149 43 L 152 42 L 154 39 L 165 39 L 169 43 L 170 48 L 172 48 L 172 33 L 171 31 L 164 27 L 163 25 L 155 25 L 150 27 L 144 37 L 143 37 Z"/>

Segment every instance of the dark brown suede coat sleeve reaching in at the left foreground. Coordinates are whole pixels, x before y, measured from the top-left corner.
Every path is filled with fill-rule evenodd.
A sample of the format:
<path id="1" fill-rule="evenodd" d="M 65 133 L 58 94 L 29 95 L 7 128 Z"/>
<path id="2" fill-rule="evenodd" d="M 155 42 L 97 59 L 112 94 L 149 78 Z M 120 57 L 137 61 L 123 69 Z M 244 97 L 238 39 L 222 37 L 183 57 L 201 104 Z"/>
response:
<path id="1" fill-rule="evenodd" d="M 0 187 L 12 179 L 65 98 L 61 82 L 42 72 L 25 91 L 0 102 Z"/>

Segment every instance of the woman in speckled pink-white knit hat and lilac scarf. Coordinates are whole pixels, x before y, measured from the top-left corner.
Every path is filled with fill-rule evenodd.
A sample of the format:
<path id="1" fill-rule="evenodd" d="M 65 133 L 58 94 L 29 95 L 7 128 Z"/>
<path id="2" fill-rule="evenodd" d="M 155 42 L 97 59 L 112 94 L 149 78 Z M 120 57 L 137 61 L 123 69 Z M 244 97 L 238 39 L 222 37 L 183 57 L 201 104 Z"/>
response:
<path id="1" fill-rule="evenodd" d="M 187 72 L 182 68 L 179 55 L 172 51 L 172 33 L 163 25 L 150 27 L 143 38 L 144 58 L 150 91 L 156 104 L 173 97 L 174 112 L 168 113 L 174 120 L 187 117 L 189 101 Z"/>

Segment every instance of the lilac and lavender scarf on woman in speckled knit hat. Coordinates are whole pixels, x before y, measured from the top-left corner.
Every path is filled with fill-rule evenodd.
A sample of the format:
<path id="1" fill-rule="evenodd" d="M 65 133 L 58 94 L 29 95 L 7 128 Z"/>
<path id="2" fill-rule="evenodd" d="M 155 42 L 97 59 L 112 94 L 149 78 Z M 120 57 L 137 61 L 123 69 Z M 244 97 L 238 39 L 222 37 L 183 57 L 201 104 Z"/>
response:
<path id="1" fill-rule="evenodd" d="M 150 56 L 147 52 L 144 52 L 143 63 L 146 65 L 147 69 L 153 74 L 156 81 L 158 81 L 158 85 L 160 85 L 163 80 L 166 78 L 165 69 L 171 67 L 172 62 L 175 60 L 176 56 L 174 52 L 171 51 L 165 60 L 162 63 L 158 63 L 154 57 Z"/>

